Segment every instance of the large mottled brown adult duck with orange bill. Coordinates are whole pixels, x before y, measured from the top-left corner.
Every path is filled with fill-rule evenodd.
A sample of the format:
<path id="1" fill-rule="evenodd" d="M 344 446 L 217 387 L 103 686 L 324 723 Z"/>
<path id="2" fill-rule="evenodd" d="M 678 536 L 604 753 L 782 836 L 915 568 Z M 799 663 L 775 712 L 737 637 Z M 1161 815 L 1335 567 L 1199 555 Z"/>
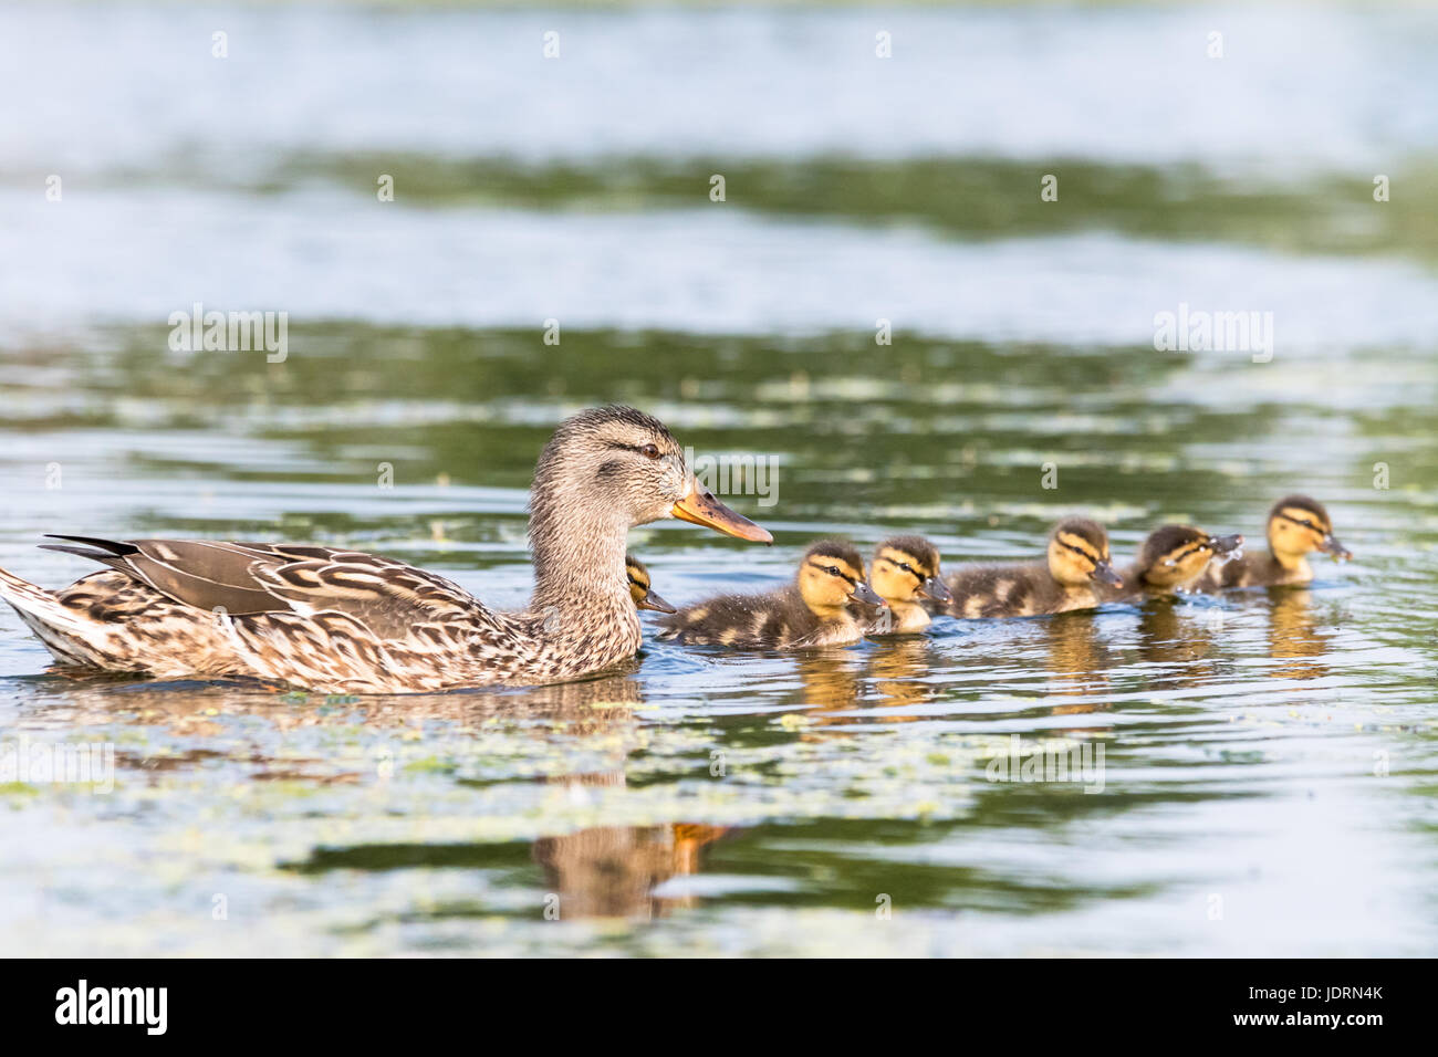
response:
<path id="1" fill-rule="evenodd" d="M 661 518 L 771 541 L 695 483 L 663 423 L 605 407 L 561 423 L 539 454 L 535 591 L 521 613 L 358 551 L 85 536 L 60 536 L 86 546 L 58 549 L 109 571 L 53 592 L 0 571 L 0 597 L 65 664 L 256 676 L 319 692 L 552 683 L 638 650 L 624 536 Z"/>

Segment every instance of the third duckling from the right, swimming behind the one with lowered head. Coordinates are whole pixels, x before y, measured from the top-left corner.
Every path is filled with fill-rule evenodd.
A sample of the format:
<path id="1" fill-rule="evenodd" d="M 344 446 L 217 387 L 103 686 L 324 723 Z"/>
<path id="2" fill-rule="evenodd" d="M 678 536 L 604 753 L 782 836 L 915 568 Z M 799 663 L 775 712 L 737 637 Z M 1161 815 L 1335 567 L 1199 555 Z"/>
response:
<path id="1" fill-rule="evenodd" d="M 1048 538 L 1047 564 L 975 565 L 949 577 L 955 617 L 1031 617 L 1093 608 L 1123 580 L 1109 561 L 1109 534 L 1087 518 L 1066 518 Z"/>

